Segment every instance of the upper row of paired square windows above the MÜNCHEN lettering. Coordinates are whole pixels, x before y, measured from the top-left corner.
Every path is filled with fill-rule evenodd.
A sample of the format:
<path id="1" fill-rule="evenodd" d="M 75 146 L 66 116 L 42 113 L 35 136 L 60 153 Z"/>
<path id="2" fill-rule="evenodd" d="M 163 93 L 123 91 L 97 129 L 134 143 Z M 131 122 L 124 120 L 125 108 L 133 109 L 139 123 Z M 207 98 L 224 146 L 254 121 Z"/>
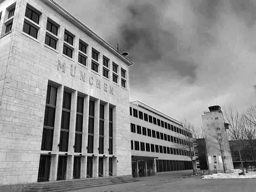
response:
<path id="1" fill-rule="evenodd" d="M 9 8 L 9 14 L 8 19 L 14 16 L 15 11 L 15 5 Z M 38 36 L 38 30 L 40 29 L 39 20 L 41 16 L 41 12 L 33 8 L 31 5 L 27 4 L 26 12 L 25 12 L 25 19 L 23 24 L 22 31 L 33 38 L 37 39 Z M 0 16 L 1 18 L 1 16 Z M 5 33 L 8 33 L 12 30 L 12 19 L 5 23 Z M 47 25 L 46 25 L 46 33 L 45 33 L 45 44 L 49 47 L 52 47 L 54 49 L 57 48 L 57 41 L 59 40 L 58 37 L 58 28 L 59 24 L 52 21 L 50 18 L 47 19 Z M 63 54 L 67 57 L 73 58 L 73 52 L 74 52 L 74 37 L 72 33 L 67 31 L 65 29 L 64 31 L 64 43 L 63 43 Z M 84 66 L 86 66 L 86 60 L 87 60 L 87 49 L 88 44 L 83 42 L 81 39 L 79 40 L 79 51 L 78 51 L 78 62 Z M 92 63 L 91 63 L 91 69 L 98 73 L 99 71 L 99 52 L 92 48 Z M 109 59 L 106 56 L 103 56 L 103 69 L 102 69 L 102 75 L 106 78 L 109 77 Z M 114 83 L 118 83 L 118 65 L 114 62 L 112 62 L 112 81 Z M 126 88 L 126 70 L 121 68 L 121 86 Z"/>

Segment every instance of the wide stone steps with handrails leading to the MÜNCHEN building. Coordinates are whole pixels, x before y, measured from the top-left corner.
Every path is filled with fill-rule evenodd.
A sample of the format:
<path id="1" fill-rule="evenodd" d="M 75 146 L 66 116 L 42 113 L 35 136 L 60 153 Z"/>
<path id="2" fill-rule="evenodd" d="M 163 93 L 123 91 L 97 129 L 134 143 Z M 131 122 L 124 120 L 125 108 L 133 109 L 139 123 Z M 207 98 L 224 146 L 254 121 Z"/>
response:
<path id="1" fill-rule="evenodd" d="M 55 182 L 39 182 L 33 183 L 23 192 L 62 192 L 69 190 L 85 189 L 90 187 L 100 187 L 105 185 L 113 185 L 120 183 L 135 182 L 131 176 L 107 176 L 87 179 L 74 179 Z"/>

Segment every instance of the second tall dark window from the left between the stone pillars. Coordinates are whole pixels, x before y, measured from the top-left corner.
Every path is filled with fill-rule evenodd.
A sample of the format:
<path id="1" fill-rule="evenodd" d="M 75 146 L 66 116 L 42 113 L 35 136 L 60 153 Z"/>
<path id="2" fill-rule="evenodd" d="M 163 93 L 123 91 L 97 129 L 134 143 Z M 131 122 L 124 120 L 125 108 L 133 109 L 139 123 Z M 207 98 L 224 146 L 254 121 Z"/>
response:
<path id="1" fill-rule="evenodd" d="M 61 115 L 61 137 L 59 151 L 67 152 L 69 139 L 69 124 L 71 112 L 71 93 L 64 91 Z"/>

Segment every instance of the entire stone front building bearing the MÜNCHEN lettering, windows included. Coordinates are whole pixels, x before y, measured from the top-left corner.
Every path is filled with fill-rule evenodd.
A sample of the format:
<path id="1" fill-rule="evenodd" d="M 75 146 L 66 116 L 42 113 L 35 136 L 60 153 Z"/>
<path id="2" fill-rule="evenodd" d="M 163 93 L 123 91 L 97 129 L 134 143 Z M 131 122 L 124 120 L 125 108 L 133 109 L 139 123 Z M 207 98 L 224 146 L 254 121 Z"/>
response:
<path id="1" fill-rule="evenodd" d="M 0 0 L 0 29 L 0 185 L 131 175 L 133 63 L 53 0 Z"/>

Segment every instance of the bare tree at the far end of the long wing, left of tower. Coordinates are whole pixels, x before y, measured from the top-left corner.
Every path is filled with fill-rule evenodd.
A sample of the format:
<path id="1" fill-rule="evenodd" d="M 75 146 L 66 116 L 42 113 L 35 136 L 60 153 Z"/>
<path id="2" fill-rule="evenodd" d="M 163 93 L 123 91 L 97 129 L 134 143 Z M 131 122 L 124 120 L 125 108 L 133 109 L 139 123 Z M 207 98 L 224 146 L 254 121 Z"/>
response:
<path id="1" fill-rule="evenodd" d="M 184 131 L 185 134 L 182 134 L 182 137 L 177 138 L 177 148 L 181 149 L 183 151 L 184 156 L 187 156 L 191 159 L 192 162 L 192 169 L 193 169 L 193 174 L 195 175 L 196 173 L 196 167 L 194 163 L 194 158 L 195 158 L 195 150 L 193 146 L 193 138 L 195 138 L 195 128 L 194 125 L 189 123 L 186 119 L 182 121 L 183 126 L 184 126 Z"/>

